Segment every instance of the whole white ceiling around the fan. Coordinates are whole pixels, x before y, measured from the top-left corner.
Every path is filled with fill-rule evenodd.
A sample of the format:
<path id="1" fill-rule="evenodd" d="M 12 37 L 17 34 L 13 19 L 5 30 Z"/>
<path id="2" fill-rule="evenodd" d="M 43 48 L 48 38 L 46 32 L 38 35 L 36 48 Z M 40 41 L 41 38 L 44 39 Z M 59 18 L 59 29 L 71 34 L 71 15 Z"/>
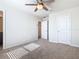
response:
<path id="1" fill-rule="evenodd" d="M 3 1 L 7 5 L 16 7 L 17 9 L 28 12 L 30 14 L 34 14 L 39 17 L 46 17 L 51 11 L 60 11 L 63 9 L 79 6 L 79 0 L 43 0 L 44 2 L 46 2 L 49 11 L 38 10 L 37 12 L 34 12 L 35 7 L 26 6 L 25 4 L 36 3 L 36 0 L 3 0 Z"/>

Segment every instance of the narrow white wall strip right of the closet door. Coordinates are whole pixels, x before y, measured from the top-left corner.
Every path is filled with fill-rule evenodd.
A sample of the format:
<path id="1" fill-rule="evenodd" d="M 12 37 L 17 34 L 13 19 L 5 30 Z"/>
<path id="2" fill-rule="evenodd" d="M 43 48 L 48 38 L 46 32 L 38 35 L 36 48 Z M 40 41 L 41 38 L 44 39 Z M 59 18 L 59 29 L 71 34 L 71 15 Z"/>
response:
<path id="1" fill-rule="evenodd" d="M 72 44 L 79 46 L 79 7 L 71 10 L 72 17 Z"/>

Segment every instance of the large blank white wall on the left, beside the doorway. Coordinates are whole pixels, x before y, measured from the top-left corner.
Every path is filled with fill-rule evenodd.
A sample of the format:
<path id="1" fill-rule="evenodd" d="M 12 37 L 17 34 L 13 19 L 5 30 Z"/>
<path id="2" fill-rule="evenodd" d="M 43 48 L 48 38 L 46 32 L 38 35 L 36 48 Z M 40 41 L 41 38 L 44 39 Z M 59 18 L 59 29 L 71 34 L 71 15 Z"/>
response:
<path id="1" fill-rule="evenodd" d="M 0 4 L 0 9 L 5 10 L 4 49 L 37 40 L 38 18 L 5 4 Z"/>

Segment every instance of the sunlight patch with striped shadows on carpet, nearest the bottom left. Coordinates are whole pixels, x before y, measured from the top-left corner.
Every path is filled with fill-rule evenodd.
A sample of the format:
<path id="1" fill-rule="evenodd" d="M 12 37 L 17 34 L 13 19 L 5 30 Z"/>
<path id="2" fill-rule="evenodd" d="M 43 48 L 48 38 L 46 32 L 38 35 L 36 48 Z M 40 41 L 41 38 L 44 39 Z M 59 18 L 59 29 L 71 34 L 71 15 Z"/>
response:
<path id="1" fill-rule="evenodd" d="M 10 59 L 20 59 L 22 56 L 27 55 L 28 53 L 29 52 L 26 51 L 25 49 L 18 48 L 18 49 L 12 50 L 6 54 L 8 55 L 8 57 Z"/>

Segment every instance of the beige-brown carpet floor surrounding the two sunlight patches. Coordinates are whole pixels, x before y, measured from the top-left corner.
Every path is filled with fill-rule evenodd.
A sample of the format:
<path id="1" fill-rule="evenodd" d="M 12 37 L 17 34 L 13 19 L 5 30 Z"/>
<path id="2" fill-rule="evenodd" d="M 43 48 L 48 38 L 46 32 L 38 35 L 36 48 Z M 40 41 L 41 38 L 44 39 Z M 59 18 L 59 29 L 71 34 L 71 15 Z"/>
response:
<path id="1" fill-rule="evenodd" d="M 30 52 L 27 56 L 23 56 L 21 59 L 79 59 L 79 48 L 68 46 L 65 44 L 57 44 L 57 43 L 50 43 L 46 40 L 38 40 L 33 43 L 37 43 L 40 45 L 40 48 Z M 23 47 L 25 45 L 19 46 Z M 11 48 L 15 49 L 18 47 Z M 2 54 L 9 51 L 8 50 L 3 50 L 0 51 L 0 59 L 2 59 Z M 4 54 L 3 54 L 4 55 Z M 8 59 L 7 56 L 4 56 L 5 58 L 3 59 Z"/>

